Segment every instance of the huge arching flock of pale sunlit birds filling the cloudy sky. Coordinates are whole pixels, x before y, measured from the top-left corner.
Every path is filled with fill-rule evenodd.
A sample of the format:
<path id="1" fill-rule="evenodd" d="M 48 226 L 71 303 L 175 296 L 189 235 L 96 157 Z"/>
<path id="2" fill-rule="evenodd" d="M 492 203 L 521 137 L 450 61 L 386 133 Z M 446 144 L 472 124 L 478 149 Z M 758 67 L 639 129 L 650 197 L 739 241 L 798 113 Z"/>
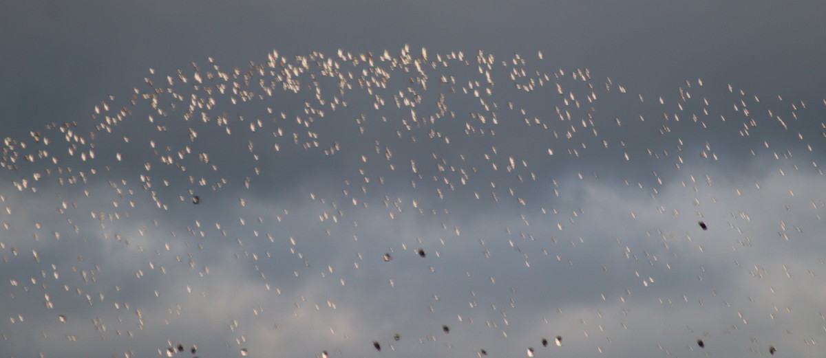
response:
<path id="1" fill-rule="evenodd" d="M 776 189 L 739 182 L 737 173 L 755 170 L 749 163 L 775 166 L 766 172 L 781 177 L 822 175 L 826 126 L 807 117 L 805 102 L 763 99 L 732 85 L 708 88 L 701 79 L 652 96 L 586 68 L 549 70 L 544 57 L 405 46 L 399 54 L 273 51 L 246 68 L 209 59 L 177 73 L 150 69 L 131 97 L 101 101 L 90 119 L 4 139 L 2 345 L 72 351 L 77 346 L 66 345 L 81 341 L 126 357 L 221 356 L 223 346 L 240 356 L 271 356 L 255 347 L 273 341 L 324 358 L 420 355 L 403 346 L 411 337 L 459 350 L 428 348 L 438 356 L 512 356 L 516 345 L 533 357 L 548 353 L 529 342 L 563 349 L 564 335 L 577 337 L 566 338 L 566 348 L 609 353 L 633 340 L 630 334 L 671 332 L 637 326 L 629 333 L 624 322 L 632 303 L 672 304 L 637 293 L 655 286 L 655 276 L 656 285 L 695 276 L 685 284 L 693 287 L 689 294 L 673 299 L 688 307 L 691 290 L 716 297 L 727 289 L 701 286 L 704 277 L 714 280 L 732 270 L 730 261 L 739 267 L 738 260 L 757 255 L 738 247 L 774 250 L 818 231 L 819 193 L 789 189 L 790 219 L 776 233 L 750 230 L 757 225 L 751 208 L 729 210 L 729 218 L 710 209 L 743 205 L 724 203 L 726 195 L 759 198 Z M 734 173 L 719 174 L 726 171 Z M 738 186 L 736 195 L 716 191 L 720 182 Z M 800 200 L 812 211 L 800 209 Z M 769 198 L 762 204 L 784 205 Z M 803 216 L 816 220 L 798 220 Z M 670 219 L 647 226 L 660 217 Z M 615 236 L 601 237 L 605 232 Z M 627 261 L 601 263 L 602 254 L 582 252 L 596 247 L 619 247 L 605 257 Z M 738 258 L 700 271 L 689 266 L 709 247 Z M 221 276 L 216 267 L 230 273 Z M 748 272 L 769 275 L 758 265 Z M 616 286 L 584 289 L 598 286 L 584 277 Z M 243 282 L 253 283 L 254 295 L 243 293 Z M 566 290 L 583 293 L 565 301 Z M 467 292 L 469 299 L 458 298 Z M 183 299 L 192 294 L 201 300 Z M 394 300 L 405 302 L 402 313 L 388 311 Z M 529 308 L 517 308 L 525 301 Z M 619 309 L 604 313 L 613 307 L 607 302 Z M 591 318 L 564 315 L 582 303 L 596 312 L 593 320 L 615 314 L 619 322 L 594 328 Z M 490 312 L 478 313 L 485 305 Z M 681 345 L 638 348 L 664 356 L 714 350 L 710 329 L 727 332 L 722 336 L 747 324 L 747 303 L 725 305 L 735 306 L 743 323 L 700 328 L 700 337 L 687 327 L 691 337 L 674 338 Z M 330 313 L 341 310 L 353 313 Z M 230 323 L 216 330 L 197 323 L 197 334 L 183 333 L 187 319 L 204 316 Z M 451 329 L 449 321 L 461 327 Z M 71 332 L 59 326 L 69 324 Z M 519 336 L 536 324 L 545 331 Z M 325 325 L 329 332 L 308 328 Z M 425 326 L 441 327 L 441 335 Z M 463 330 L 467 336 L 449 340 Z M 159 332 L 177 336 L 164 342 Z M 387 339 L 377 337 L 384 333 Z M 588 340 L 598 334 L 605 334 L 602 342 Z M 801 342 L 814 345 L 814 334 Z M 754 354 L 781 352 L 772 337 L 751 340 L 759 342 Z M 553 356 L 574 351 L 567 352 Z"/>

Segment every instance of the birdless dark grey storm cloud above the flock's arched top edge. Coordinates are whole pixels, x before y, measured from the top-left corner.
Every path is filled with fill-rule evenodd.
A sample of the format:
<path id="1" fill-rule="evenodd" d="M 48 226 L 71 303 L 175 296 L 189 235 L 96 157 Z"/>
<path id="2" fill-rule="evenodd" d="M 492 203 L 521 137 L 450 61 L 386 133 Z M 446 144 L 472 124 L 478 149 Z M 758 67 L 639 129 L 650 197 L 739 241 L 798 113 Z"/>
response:
<path id="1" fill-rule="evenodd" d="M 657 82 L 657 91 L 696 77 L 792 97 L 822 89 L 818 73 L 826 52 L 817 45 L 826 31 L 813 18 L 823 11 L 819 2 L 331 6 L 12 3 L 2 19 L 2 117 L 35 125 L 83 120 L 108 94 L 126 96 L 149 67 L 173 73 L 209 56 L 243 66 L 273 48 L 359 52 L 404 43 L 501 56 L 542 49 L 561 67 L 592 68 L 634 87 Z"/>

